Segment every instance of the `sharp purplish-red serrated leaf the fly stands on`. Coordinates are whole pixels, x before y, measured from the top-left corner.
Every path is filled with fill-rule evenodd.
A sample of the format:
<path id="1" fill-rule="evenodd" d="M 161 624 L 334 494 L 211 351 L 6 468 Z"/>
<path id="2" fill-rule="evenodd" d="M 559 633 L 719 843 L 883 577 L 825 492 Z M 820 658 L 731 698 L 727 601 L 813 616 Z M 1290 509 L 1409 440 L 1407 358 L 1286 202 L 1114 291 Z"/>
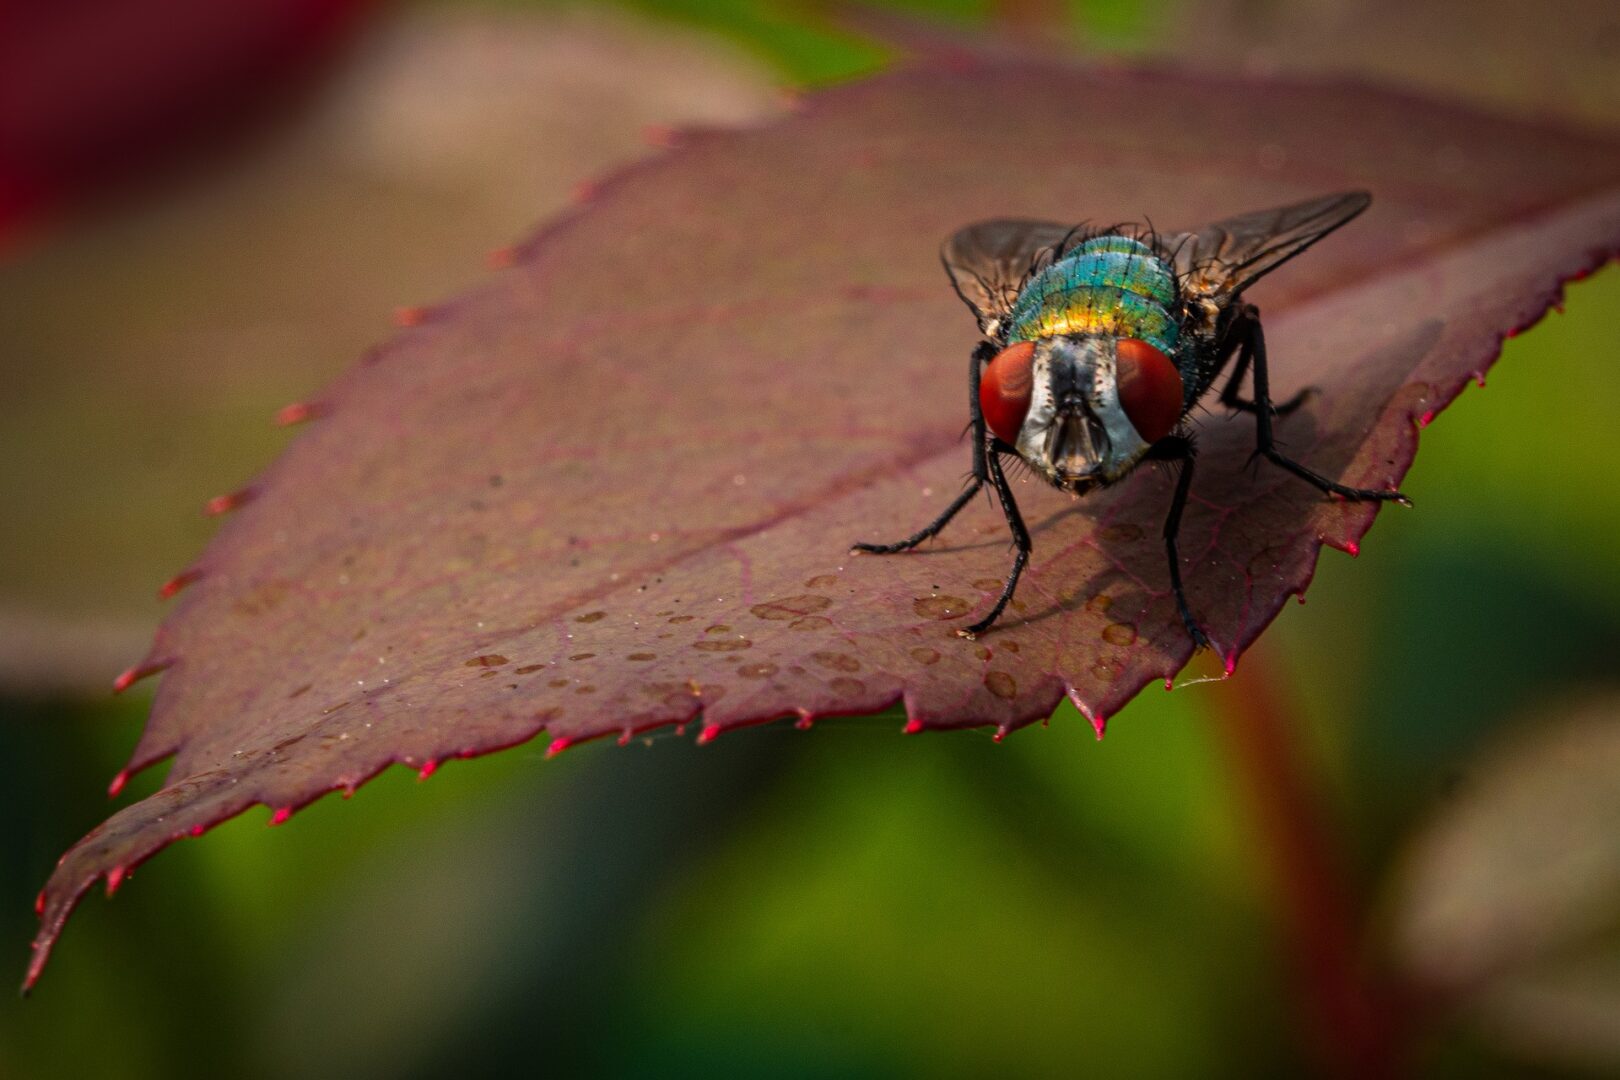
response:
<path id="1" fill-rule="evenodd" d="M 199 560 L 152 657 L 131 767 L 168 785 L 68 852 L 29 980 L 96 878 L 253 803 L 284 819 L 392 761 L 552 751 L 701 716 L 1102 727 L 1189 654 L 1168 593 L 1165 476 L 1069 502 L 1019 484 L 1035 559 L 990 505 L 932 547 L 967 468 L 974 324 L 935 261 L 988 215 L 1165 228 L 1330 189 L 1374 209 L 1256 290 L 1293 453 L 1396 483 L 1418 419 L 1620 244 L 1620 144 L 1405 96 L 961 55 L 701 133 L 601 186 L 491 287 L 428 309 L 319 395 Z M 1375 507 L 1246 468 L 1247 418 L 1202 423 L 1183 552 L 1228 656 L 1353 549 Z"/>

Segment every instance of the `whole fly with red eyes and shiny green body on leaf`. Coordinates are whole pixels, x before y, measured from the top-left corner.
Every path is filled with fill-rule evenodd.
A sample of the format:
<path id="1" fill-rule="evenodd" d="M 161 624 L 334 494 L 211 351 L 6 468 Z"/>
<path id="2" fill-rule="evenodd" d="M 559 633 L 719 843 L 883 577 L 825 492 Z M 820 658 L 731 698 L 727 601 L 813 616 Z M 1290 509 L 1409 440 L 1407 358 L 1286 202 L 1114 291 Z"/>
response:
<path id="1" fill-rule="evenodd" d="M 1346 487 L 1277 449 L 1272 421 L 1299 408 L 1311 390 L 1273 405 L 1260 311 L 1243 300 L 1243 290 L 1371 201 L 1364 191 L 1346 191 L 1171 236 L 1006 219 L 953 235 L 940 257 L 983 332 L 969 359 L 974 471 L 925 528 L 896 544 L 855 544 L 855 551 L 915 547 L 991 484 L 1016 554 L 995 606 L 957 631 L 972 638 L 1013 599 L 1032 551 L 1001 468 L 1004 457 L 1022 458 L 1074 495 L 1118 483 L 1142 461 L 1168 461 L 1181 466 L 1165 517 L 1170 586 L 1192 643 L 1209 646 L 1181 586 L 1176 534 L 1196 457 L 1187 413 L 1233 355 L 1238 363 L 1220 402 L 1254 415 L 1257 455 L 1328 495 L 1411 505 L 1393 489 Z M 1238 389 L 1251 372 L 1254 397 L 1243 398 Z"/>

